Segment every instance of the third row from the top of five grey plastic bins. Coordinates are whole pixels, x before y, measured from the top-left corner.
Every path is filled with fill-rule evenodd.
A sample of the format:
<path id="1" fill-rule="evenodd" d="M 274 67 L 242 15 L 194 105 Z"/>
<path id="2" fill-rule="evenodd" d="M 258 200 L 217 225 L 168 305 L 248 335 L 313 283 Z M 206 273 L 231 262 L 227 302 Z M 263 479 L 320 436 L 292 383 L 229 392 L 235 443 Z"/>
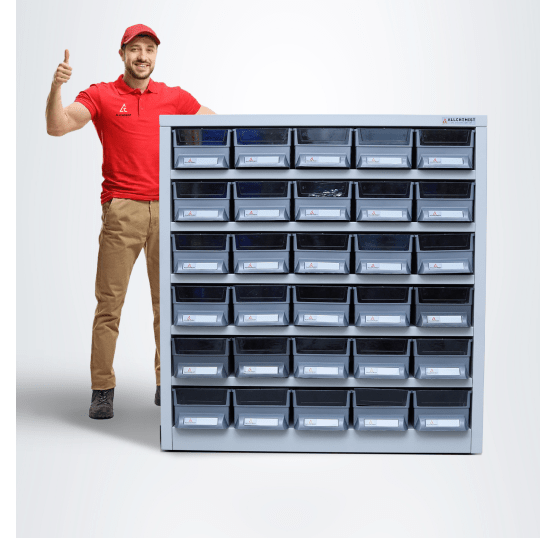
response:
<path id="1" fill-rule="evenodd" d="M 473 273 L 472 233 L 173 233 L 171 241 L 173 272 L 179 274 L 349 274 L 351 243 L 355 250 L 353 273 L 411 274 L 413 252 L 417 274 Z"/>

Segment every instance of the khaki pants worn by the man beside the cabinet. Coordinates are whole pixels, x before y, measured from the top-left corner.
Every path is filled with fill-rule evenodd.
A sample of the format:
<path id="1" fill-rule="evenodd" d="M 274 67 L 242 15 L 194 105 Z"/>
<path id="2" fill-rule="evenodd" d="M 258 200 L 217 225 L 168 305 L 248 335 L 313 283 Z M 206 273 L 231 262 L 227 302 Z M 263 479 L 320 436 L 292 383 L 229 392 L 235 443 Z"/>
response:
<path id="1" fill-rule="evenodd" d="M 131 270 L 144 248 L 154 311 L 156 381 L 159 381 L 159 202 L 113 198 L 102 206 L 92 327 L 92 389 L 116 386 L 113 369 L 118 326 Z"/>

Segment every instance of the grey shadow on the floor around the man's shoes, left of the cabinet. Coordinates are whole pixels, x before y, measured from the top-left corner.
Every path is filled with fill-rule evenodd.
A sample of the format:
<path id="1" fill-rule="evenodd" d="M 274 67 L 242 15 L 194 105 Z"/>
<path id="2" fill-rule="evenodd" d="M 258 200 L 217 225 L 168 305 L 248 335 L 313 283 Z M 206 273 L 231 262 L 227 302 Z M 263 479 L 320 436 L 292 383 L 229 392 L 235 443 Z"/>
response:
<path id="1" fill-rule="evenodd" d="M 17 390 L 17 415 L 26 422 L 29 419 L 51 424 L 59 421 L 84 431 L 130 441 L 157 452 L 160 448 L 160 409 L 154 404 L 154 391 L 147 386 L 144 388 L 144 395 L 133 388 L 117 388 L 114 417 L 95 420 L 88 417 L 90 390 L 65 385 L 44 388 L 25 384 Z"/>

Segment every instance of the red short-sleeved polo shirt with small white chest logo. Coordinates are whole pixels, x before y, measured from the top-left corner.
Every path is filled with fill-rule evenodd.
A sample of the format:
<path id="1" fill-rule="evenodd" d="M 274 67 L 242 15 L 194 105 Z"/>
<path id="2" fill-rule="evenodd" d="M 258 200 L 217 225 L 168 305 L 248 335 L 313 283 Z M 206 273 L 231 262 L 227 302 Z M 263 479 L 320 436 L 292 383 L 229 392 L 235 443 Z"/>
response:
<path id="1" fill-rule="evenodd" d="M 180 87 L 150 79 L 147 89 L 128 86 L 122 75 L 79 93 L 103 145 L 101 203 L 111 198 L 159 200 L 159 116 L 193 115 L 201 105 Z"/>

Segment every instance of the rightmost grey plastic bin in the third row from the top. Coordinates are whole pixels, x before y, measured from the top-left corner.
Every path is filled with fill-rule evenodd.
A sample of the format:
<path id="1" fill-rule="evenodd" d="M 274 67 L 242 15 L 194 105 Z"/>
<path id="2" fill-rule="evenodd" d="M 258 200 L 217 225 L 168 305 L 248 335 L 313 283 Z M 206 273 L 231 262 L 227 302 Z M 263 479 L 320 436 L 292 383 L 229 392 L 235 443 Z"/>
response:
<path id="1" fill-rule="evenodd" d="M 419 275 L 473 272 L 474 235 L 426 234 L 416 237 L 416 272 Z"/>

